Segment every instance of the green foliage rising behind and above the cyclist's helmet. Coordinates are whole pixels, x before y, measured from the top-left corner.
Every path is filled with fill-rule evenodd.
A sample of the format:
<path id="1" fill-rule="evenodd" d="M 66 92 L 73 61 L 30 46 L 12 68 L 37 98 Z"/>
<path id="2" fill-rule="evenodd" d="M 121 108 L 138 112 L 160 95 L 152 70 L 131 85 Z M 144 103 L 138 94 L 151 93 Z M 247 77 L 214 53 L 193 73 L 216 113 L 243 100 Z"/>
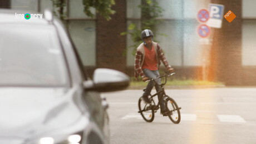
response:
<path id="1" fill-rule="evenodd" d="M 135 23 L 131 23 L 128 26 L 128 31 L 121 33 L 121 35 L 131 35 L 132 42 L 134 42 L 134 44 L 130 47 L 133 48 L 132 54 L 134 55 L 136 53 L 137 46 L 142 43 L 142 30 L 151 29 L 154 33 L 154 41 L 157 42 L 155 33 L 156 25 L 161 23 L 161 20 L 157 18 L 161 17 L 164 11 L 164 9 L 159 6 L 156 0 L 141 0 L 139 8 L 141 8 L 141 27 L 137 27 Z"/>

